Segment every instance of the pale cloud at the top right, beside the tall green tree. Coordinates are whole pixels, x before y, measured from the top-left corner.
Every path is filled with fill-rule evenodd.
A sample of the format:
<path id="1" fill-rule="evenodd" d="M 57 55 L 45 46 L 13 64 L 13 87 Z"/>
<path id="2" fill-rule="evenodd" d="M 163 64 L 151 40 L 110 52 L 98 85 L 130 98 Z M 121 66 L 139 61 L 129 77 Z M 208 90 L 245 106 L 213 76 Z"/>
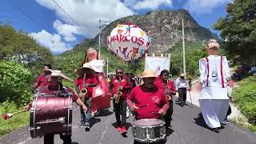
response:
<path id="1" fill-rule="evenodd" d="M 214 8 L 229 3 L 231 0 L 188 0 L 185 8 L 196 14 L 212 12 Z"/>

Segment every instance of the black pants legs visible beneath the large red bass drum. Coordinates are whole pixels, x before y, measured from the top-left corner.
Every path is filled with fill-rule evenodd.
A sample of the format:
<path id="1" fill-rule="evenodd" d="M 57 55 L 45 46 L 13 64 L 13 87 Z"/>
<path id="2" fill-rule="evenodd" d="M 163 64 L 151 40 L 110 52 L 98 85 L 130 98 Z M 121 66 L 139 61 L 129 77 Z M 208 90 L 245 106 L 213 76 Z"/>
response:
<path id="1" fill-rule="evenodd" d="M 63 144 L 71 144 L 71 134 L 59 134 L 59 137 L 62 139 Z M 46 134 L 43 137 L 44 144 L 54 144 L 54 134 Z"/>

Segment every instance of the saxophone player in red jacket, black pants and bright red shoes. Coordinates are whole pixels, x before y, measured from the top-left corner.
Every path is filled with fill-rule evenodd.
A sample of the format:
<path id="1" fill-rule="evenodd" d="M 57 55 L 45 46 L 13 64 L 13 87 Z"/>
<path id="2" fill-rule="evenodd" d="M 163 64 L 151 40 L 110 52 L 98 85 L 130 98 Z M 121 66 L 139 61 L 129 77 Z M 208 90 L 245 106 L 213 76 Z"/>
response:
<path id="1" fill-rule="evenodd" d="M 126 98 L 127 92 L 130 89 L 130 81 L 126 78 L 123 73 L 122 69 L 118 68 L 116 70 L 116 76 L 112 79 L 110 83 L 110 87 L 112 87 L 113 92 L 112 95 L 114 96 L 114 113 L 115 118 L 118 123 L 117 130 L 121 131 L 121 134 L 126 134 Z M 110 88 L 111 89 L 111 88 Z M 118 90 L 122 92 L 122 95 L 118 98 Z M 118 100 L 119 99 L 119 100 Z M 120 114 L 122 114 L 122 121 L 120 118 Z"/>

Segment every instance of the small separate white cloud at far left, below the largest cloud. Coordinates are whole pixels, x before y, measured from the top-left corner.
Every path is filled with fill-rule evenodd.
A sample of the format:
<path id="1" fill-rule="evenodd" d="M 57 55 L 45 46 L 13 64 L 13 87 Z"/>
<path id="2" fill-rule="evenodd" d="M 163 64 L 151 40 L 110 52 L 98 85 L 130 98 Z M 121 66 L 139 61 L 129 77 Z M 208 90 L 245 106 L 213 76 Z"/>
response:
<path id="1" fill-rule="evenodd" d="M 50 34 L 46 30 L 42 30 L 38 33 L 31 33 L 30 36 L 54 53 L 62 53 L 65 50 L 70 50 L 70 47 L 66 46 L 65 42 L 62 42 L 62 37 L 59 34 Z"/>

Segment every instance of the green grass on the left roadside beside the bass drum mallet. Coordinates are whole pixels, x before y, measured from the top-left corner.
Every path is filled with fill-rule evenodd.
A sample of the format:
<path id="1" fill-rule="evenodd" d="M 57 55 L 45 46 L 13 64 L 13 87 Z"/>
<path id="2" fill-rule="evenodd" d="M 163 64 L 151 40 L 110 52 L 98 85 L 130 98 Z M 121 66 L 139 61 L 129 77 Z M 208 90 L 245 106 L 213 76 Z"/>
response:
<path id="1" fill-rule="evenodd" d="M 6 120 L 2 118 L 2 114 L 14 113 L 17 111 L 18 109 L 13 102 L 3 102 L 2 104 L 0 104 L 0 136 L 8 134 L 11 131 L 16 130 L 29 123 L 29 112 L 14 115 L 14 117 Z"/>

